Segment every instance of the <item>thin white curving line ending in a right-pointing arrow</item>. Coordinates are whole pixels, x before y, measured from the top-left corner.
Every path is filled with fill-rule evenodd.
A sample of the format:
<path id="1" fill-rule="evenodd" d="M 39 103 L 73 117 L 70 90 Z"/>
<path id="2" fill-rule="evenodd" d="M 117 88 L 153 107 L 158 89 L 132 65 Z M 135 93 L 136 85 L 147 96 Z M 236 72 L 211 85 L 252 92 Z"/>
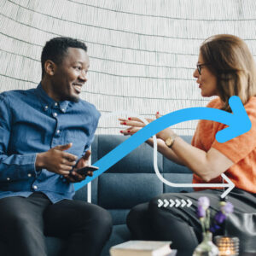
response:
<path id="1" fill-rule="evenodd" d="M 138 115 L 137 113 L 131 113 L 128 111 L 115 111 L 112 113 L 106 114 L 104 117 L 102 116 L 102 119 L 106 119 L 111 116 L 116 116 L 118 114 L 128 114 L 130 116 L 137 117 L 138 119 L 141 119 L 145 125 L 148 125 L 148 121 L 144 119 L 142 116 Z M 223 177 L 224 181 L 227 183 L 171 183 L 166 178 L 162 177 L 158 166 L 157 166 L 157 140 L 155 135 L 153 136 L 153 154 L 154 154 L 154 172 L 156 176 L 160 179 L 162 183 L 165 183 L 167 186 L 175 187 L 175 188 L 228 188 L 224 191 L 222 195 L 220 195 L 221 198 L 224 198 L 226 195 L 230 193 L 232 189 L 235 188 L 235 184 L 230 181 L 230 178 L 227 177 L 224 173 L 221 174 L 221 177 Z"/>

